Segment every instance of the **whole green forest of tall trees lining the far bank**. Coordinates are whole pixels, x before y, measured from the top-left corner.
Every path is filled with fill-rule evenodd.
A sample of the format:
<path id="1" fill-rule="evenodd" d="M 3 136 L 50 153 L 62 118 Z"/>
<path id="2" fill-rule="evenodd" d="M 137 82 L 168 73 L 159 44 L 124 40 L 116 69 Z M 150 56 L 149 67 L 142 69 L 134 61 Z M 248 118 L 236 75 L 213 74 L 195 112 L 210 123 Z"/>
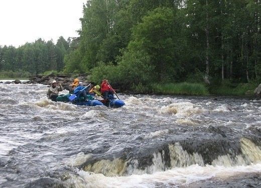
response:
<path id="1" fill-rule="evenodd" d="M 0 71 L 88 73 L 144 92 L 182 82 L 214 92 L 256 86 L 260 16 L 259 0 L 88 0 L 78 38 L 0 46 Z"/>

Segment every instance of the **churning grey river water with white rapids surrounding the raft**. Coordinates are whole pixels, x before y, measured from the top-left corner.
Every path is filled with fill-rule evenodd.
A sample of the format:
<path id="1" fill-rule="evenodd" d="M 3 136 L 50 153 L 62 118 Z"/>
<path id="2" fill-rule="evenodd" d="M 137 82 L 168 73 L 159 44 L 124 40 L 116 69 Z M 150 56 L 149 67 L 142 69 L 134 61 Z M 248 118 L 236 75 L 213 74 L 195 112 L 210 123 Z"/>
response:
<path id="1" fill-rule="evenodd" d="M 261 186 L 261 101 L 118 94 L 110 109 L 47 89 L 0 83 L 0 187 Z"/>

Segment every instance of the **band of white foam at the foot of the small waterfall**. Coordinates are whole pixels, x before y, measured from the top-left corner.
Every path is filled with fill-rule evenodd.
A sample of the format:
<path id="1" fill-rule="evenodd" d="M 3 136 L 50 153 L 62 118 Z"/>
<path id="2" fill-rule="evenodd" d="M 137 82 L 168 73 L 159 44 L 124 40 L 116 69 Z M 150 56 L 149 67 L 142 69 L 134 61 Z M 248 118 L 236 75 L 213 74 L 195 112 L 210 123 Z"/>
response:
<path id="1" fill-rule="evenodd" d="M 113 177 L 79 170 L 78 176 L 72 174 L 72 178 L 67 182 L 76 187 L 157 187 L 158 184 L 166 185 L 166 187 L 177 187 L 212 177 L 224 179 L 240 173 L 252 172 L 260 173 L 261 164 L 233 167 L 214 167 L 212 165 L 202 167 L 194 164 L 186 168 L 173 168 L 153 174 Z"/>

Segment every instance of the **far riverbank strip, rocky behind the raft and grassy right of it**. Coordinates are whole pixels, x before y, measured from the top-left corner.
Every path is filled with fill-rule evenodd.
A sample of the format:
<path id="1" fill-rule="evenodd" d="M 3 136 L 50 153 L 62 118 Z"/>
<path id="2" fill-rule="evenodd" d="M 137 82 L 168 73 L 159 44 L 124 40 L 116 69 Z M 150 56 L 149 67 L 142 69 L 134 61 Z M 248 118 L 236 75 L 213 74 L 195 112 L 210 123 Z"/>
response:
<path id="1" fill-rule="evenodd" d="M 87 74 L 56 74 L 50 72 L 46 75 L 39 74 L 31 76 L 27 80 L 22 78 L 21 80 L 15 79 L 11 81 L 10 78 L 0 80 L 4 83 L 41 83 L 44 85 L 50 85 L 52 80 L 56 80 L 62 83 L 65 89 L 69 90 L 70 84 L 77 78 L 83 82 L 83 84 L 94 83 L 89 79 Z M 260 92 L 255 93 L 258 83 L 230 83 L 224 81 L 218 84 L 206 85 L 205 83 L 152 83 L 150 85 L 137 85 L 134 89 L 124 89 L 120 85 L 113 83 L 112 86 L 116 88 L 117 92 L 132 93 L 132 94 L 151 94 L 151 95 L 182 95 L 182 96 L 238 96 L 238 97 L 261 97 Z M 126 87 L 126 86 L 124 86 Z M 129 87 L 131 88 L 131 87 Z"/>

